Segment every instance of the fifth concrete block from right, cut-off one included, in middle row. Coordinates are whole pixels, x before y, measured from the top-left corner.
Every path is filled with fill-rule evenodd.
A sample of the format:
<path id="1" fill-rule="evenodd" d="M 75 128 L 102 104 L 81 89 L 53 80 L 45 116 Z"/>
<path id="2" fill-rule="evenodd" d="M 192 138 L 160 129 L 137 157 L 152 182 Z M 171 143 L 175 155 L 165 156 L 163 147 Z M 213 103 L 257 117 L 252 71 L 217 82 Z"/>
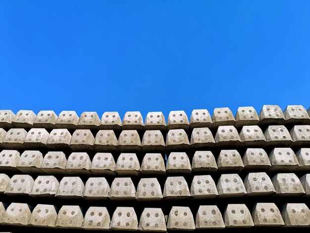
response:
<path id="1" fill-rule="evenodd" d="M 196 151 L 192 161 L 192 172 L 215 173 L 217 165 L 211 151 Z"/>

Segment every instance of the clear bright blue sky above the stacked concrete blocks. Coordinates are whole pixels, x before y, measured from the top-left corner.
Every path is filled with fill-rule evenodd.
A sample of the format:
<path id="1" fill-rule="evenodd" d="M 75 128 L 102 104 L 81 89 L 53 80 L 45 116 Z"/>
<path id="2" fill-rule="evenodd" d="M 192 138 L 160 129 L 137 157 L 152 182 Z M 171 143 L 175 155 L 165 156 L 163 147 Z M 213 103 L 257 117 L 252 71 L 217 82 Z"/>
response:
<path id="1" fill-rule="evenodd" d="M 1 0 L 0 109 L 310 107 L 309 0 Z"/>

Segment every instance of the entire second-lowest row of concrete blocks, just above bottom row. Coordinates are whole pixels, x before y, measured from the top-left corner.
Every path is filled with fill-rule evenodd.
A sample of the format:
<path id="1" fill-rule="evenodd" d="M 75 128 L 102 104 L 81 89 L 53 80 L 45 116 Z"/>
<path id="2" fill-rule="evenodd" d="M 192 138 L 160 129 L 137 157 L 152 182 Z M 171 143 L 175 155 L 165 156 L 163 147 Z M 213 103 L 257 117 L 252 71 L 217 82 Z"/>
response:
<path id="1" fill-rule="evenodd" d="M 270 179 L 262 173 L 249 173 L 244 180 L 238 174 L 223 174 L 215 184 L 211 175 L 195 175 L 189 189 L 183 176 L 169 176 L 163 192 L 157 178 L 141 178 L 137 189 L 130 177 L 116 177 L 109 186 L 104 177 L 91 177 L 84 184 L 79 176 L 66 176 L 60 182 L 52 175 L 0 174 L 0 193 L 34 197 L 85 198 L 158 201 L 178 198 L 216 198 L 240 196 L 310 195 L 310 174 L 298 178 L 294 173 L 279 173 Z"/>

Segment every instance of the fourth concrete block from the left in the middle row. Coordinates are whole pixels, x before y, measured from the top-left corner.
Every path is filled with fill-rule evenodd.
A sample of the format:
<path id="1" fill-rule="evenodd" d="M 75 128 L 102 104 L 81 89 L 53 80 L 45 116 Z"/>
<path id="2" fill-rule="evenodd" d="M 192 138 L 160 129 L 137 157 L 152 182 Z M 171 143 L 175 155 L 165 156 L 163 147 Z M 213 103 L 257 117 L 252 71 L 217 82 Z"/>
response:
<path id="1" fill-rule="evenodd" d="M 73 152 L 68 157 L 65 171 L 69 174 L 90 175 L 92 162 L 86 152 Z"/>

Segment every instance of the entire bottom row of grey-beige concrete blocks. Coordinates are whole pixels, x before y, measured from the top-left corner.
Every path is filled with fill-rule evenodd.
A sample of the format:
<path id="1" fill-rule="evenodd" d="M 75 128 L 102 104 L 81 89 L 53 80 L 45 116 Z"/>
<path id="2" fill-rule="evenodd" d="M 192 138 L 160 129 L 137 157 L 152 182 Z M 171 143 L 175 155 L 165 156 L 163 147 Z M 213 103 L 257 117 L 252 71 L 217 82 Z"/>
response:
<path id="1" fill-rule="evenodd" d="M 58 212 L 58 213 L 57 213 Z M 166 221 L 167 219 L 167 221 Z M 201 205 L 196 219 L 189 207 L 173 206 L 165 216 L 160 208 L 144 208 L 140 221 L 133 207 L 117 207 L 110 219 L 106 207 L 89 207 L 85 216 L 80 206 L 11 203 L 5 210 L 0 202 L 0 224 L 34 227 L 166 232 L 195 229 L 250 227 L 310 227 L 310 209 L 305 203 L 287 203 L 281 212 L 274 203 L 256 203 L 252 213 L 245 204 L 228 204 L 223 215 L 216 205 Z"/>

